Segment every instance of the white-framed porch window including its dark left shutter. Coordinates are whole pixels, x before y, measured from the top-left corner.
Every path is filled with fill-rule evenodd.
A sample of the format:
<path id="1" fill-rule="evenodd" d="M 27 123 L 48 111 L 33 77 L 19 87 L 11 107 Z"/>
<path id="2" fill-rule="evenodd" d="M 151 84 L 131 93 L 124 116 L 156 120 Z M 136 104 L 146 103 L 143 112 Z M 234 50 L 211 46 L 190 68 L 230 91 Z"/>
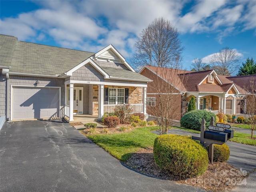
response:
<path id="1" fill-rule="evenodd" d="M 122 88 L 105 88 L 104 104 L 123 104 L 125 92 Z"/>

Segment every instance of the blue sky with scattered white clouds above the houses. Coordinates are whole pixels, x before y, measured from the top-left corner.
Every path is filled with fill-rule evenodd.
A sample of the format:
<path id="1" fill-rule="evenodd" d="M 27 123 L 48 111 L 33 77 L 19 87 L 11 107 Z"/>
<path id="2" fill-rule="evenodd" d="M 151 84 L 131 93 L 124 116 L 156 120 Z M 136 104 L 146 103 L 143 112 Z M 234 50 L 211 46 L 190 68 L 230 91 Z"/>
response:
<path id="1" fill-rule="evenodd" d="M 1 34 L 88 52 L 112 44 L 125 58 L 158 17 L 178 29 L 187 70 L 194 58 L 208 63 L 225 46 L 241 56 L 241 64 L 256 60 L 256 0 L 0 0 Z"/>

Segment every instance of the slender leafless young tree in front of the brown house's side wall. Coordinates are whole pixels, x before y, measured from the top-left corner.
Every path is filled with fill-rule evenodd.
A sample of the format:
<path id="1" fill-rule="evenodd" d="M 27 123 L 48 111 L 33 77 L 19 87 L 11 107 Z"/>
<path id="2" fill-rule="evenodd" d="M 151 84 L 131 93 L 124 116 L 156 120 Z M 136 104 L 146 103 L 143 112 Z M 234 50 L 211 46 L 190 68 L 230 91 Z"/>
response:
<path id="1" fill-rule="evenodd" d="M 157 67 L 155 72 L 148 76 L 154 80 L 148 83 L 148 89 L 154 93 L 155 105 L 147 106 L 147 109 L 160 125 L 160 134 L 166 134 L 168 126 L 181 117 L 182 94 L 188 76 L 180 76 L 184 71 L 178 68 Z"/>

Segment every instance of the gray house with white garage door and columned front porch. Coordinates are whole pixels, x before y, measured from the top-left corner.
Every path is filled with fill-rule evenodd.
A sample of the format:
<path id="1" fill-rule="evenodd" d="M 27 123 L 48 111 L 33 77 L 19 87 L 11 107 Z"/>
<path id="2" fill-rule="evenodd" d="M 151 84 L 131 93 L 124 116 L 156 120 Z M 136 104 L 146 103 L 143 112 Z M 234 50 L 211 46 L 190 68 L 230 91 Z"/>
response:
<path id="1" fill-rule="evenodd" d="M 150 81 L 112 45 L 92 53 L 0 35 L 0 116 L 7 120 L 101 117 L 124 103 L 146 114 Z"/>

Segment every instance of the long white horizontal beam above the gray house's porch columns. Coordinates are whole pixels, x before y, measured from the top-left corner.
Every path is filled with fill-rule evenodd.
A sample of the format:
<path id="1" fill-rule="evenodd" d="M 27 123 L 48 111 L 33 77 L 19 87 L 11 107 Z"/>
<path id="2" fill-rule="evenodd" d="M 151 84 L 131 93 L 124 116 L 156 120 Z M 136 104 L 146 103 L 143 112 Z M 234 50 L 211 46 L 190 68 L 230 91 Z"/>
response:
<path id="1" fill-rule="evenodd" d="M 135 83 L 115 83 L 115 82 L 101 82 L 101 81 L 78 81 L 68 80 L 65 84 L 94 84 L 94 85 L 112 85 L 112 86 L 129 86 L 129 87 L 147 87 L 147 84 L 135 84 Z"/>

